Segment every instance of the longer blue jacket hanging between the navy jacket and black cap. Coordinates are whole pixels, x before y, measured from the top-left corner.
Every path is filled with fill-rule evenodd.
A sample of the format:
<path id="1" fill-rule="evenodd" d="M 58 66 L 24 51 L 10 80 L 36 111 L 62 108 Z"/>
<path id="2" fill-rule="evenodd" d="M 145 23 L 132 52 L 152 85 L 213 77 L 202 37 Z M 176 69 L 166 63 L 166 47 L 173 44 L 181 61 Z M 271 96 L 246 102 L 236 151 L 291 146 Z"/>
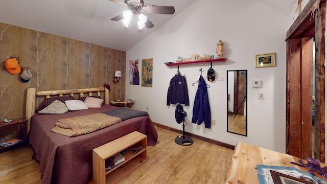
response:
<path id="1" fill-rule="evenodd" d="M 198 122 L 198 125 L 201 125 L 203 121 L 205 128 L 211 128 L 208 91 L 203 77 L 200 76 L 198 90 L 196 91 L 194 100 L 192 123 Z"/>

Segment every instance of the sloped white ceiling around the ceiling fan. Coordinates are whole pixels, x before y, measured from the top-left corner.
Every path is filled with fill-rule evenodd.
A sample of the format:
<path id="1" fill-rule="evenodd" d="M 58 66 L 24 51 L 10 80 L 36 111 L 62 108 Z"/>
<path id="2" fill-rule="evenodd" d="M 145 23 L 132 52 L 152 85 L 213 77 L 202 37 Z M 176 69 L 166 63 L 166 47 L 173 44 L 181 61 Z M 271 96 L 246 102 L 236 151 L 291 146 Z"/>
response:
<path id="1" fill-rule="evenodd" d="M 135 24 L 127 29 L 121 21 L 110 20 L 126 8 L 109 0 L 0 0 L 0 22 L 127 51 L 195 1 L 144 0 L 145 5 L 174 6 L 175 14 L 147 13 L 154 27 L 143 30 Z M 258 1 L 287 15 L 293 2 Z"/>

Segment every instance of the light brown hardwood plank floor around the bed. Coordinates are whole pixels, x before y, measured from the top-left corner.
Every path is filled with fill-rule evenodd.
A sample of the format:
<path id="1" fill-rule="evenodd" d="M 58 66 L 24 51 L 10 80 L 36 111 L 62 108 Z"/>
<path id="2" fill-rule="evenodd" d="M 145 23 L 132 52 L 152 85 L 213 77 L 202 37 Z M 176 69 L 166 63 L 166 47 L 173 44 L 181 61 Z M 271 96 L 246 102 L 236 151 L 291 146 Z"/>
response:
<path id="1" fill-rule="evenodd" d="M 118 183 L 225 183 L 233 150 L 195 138 L 193 145 L 180 146 L 174 142 L 178 133 L 156 129 L 158 142 L 148 146 L 148 160 Z M 0 154 L 0 183 L 41 183 L 32 155 L 24 147 Z"/>

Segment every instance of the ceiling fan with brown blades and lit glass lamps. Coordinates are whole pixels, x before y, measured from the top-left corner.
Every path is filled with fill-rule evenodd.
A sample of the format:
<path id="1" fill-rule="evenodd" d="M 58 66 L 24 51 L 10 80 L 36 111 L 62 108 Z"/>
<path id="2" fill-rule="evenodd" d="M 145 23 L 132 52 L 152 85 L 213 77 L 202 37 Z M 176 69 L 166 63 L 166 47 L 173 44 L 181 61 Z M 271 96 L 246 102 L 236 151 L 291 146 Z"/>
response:
<path id="1" fill-rule="evenodd" d="M 144 26 L 147 28 L 153 28 L 152 22 L 143 13 L 156 13 L 156 14 L 174 14 L 175 8 L 173 6 L 156 6 L 156 5 L 144 5 L 143 0 L 109 0 L 119 5 L 127 7 L 128 10 L 111 18 L 111 20 L 122 20 L 123 24 L 128 27 L 131 16 L 137 17 L 138 29 L 142 29 Z"/>

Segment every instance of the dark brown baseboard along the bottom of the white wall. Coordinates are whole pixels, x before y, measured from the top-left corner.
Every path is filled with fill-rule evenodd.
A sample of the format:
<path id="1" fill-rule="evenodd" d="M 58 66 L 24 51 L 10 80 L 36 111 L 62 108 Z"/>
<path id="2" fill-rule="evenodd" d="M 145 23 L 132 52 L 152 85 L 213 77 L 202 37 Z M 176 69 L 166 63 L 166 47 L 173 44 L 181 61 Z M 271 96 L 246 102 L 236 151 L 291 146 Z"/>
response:
<path id="1" fill-rule="evenodd" d="M 164 128 L 164 129 L 167 129 L 167 130 L 170 130 L 170 131 L 173 131 L 173 132 L 177 132 L 177 133 L 182 134 L 182 131 L 181 130 L 178 130 L 178 129 L 175 129 L 175 128 L 171 128 L 171 127 L 166 126 L 166 125 L 161 125 L 161 124 L 155 123 L 155 122 L 153 122 L 153 124 L 155 126 L 157 126 L 157 127 Z M 194 137 L 194 138 L 196 138 L 198 140 L 205 141 L 205 142 L 208 142 L 208 143 L 211 143 L 211 144 L 215 144 L 215 145 L 218 145 L 218 146 L 227 148 L 227 149 L 231 149 L 231 150 L 234 150 L 235 149 L 235 146 L 233 146 L 233 145 L 226 144 L 226 143 L 219 142 L 219 141 L 212 140 L 212 139 L 208 139 L 206 137 L 203 137 L 203 136 L 200 136 L 200 135 L 195 135 L 193 133 L 185 132 L 185 135 L 186 136 L 189 136 L 189 137 Z"/>

